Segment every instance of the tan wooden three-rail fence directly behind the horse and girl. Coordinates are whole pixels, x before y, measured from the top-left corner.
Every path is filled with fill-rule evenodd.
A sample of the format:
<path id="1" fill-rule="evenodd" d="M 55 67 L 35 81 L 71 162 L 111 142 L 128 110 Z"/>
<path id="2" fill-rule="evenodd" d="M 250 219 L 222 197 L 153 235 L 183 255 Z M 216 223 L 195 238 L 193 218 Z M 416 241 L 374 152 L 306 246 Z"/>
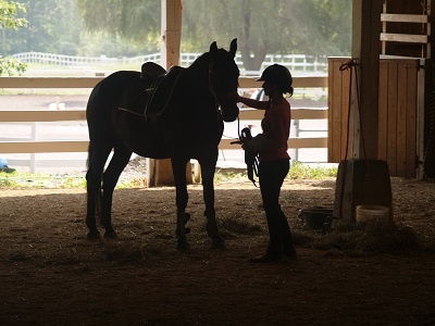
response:
<path id="1" fill-rule="evenodd" d="M 92 88 L 102 77 L 0 77 L 0 88 Z M 240 88 L 257 88 L 259 85 L 254 78 L 240 77 Z M 327 77 L 295 77 L 295 88 L 318 89 L 324 92 L 327 87 Z M 299 120 L 326 120 L 326 108 L 309 109 L 300 108 L 291 110 L 294 121 Z M 259 121 L 261 112 L 257 110 L 243 110 L 240 112 L 240 124 L 243 121 Z M 87 152 L 87 140 L 38 140 L 36 137 L 36 123 L 39 122 L 72 122 L 85 121 L 84 110 L 67 111 L 0 111 L 1 123 L 30 123 L 34 126 L 33 137 L 28 139 L 3 139 L 0 141 L 0 153 L 71 153 Z M 73 137 L 73 135 L 72 135 Z M 220 150 L 237 149 L 231 142 L 234 139 L 222 139 Z M 327 137 L 290 138 L 289 147 L 302 148 L 327 148 Z M 27 165 L 28 166 L 28 165 Z M 35 162 L 30 162 L 35 166 Z"/>

